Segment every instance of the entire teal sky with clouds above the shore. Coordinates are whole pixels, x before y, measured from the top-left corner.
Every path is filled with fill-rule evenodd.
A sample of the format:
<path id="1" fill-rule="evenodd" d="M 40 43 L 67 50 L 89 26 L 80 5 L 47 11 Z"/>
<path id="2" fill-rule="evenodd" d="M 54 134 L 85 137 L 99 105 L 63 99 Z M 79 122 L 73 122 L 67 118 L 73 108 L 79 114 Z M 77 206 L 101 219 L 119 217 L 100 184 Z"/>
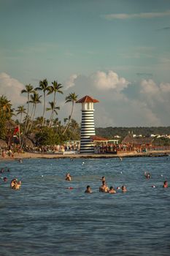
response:
<path id="1" fill-rule="evenodd" d="M 75 92 L 99 100 L 96 127 L 170 125 L 170 0 L 0 0 L 0 33 L 0 95 L 15 108 L 47 78 L 63 85 L 61 121 Z"/>

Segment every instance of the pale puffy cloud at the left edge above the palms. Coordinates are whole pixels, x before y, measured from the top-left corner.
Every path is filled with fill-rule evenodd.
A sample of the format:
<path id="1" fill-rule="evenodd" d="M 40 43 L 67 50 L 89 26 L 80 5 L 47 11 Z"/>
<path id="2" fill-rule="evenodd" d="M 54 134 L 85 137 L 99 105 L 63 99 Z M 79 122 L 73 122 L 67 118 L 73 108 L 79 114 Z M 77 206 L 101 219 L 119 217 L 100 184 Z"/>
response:
<path id="1" fill-rule="evenodd" d="M 6 96 L 12 104 L 22 105 L 26 103 L 26 97 L 20 95 L 22 89 L 24 89 L 23 83 L 11 78 L 5 72 L 0 73 L 0 94 Z"/>

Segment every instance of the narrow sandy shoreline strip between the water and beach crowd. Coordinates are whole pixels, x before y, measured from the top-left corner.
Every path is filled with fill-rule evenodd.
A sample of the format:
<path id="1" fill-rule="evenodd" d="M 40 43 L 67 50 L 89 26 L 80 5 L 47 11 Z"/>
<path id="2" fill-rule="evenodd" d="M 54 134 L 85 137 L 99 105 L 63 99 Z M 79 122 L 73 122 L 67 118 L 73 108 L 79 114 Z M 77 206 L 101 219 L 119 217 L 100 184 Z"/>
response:
<path id="1" fill-rule="evenodd" d="M 0 157 L 1 161 L 18 160 L 18 159 L 110 159 L 110 158 L 123 158 L 123 157 L 169 157 L 170 151 L 149 151 L 147 153 L 136 152 L 118 152 L 117 154 L 39 154 L 32 152 L 15 153 L 14 158 Z"/>

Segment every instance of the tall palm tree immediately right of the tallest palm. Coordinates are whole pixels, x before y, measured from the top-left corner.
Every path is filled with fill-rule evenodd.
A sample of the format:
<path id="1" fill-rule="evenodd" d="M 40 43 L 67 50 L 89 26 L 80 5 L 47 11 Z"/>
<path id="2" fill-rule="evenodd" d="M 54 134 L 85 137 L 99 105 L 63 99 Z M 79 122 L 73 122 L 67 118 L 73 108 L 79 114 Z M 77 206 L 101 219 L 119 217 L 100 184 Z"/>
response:
<path id="1" fill-rule="evenodd" d="M 52 82 L 53 86 L 50 86 L 49 88 L 49 92 L 48 94 L 52 94 L 54 93 L 54 98 L 53 98 L 53 108 L 51 110 L 51 115 L 50 115 L 50 123 L 51 121 L 53 121 L 53 116 L 55 113 L 55 105 L 56 105 L 56 94 L 63 94 L 63 91 L 61 91 L 61 88 L 63 88 L 63 86 L 61 85 L 61 83 L 58 83 L 57 80 L 54 80 Z"/>

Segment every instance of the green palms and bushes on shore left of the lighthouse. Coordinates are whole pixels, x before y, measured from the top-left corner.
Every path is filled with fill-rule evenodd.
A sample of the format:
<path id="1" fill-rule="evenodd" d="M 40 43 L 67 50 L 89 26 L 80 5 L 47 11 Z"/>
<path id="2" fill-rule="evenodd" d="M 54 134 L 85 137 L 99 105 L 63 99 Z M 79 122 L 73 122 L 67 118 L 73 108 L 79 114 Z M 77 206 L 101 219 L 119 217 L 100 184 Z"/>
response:
<path id="1" fill-rule="evenodd" d="M 72 108 L 68 117 L 62 121 L 58 119 L 57 96 L 63 94 L 63 86 L 54 80 L 50 85 L 47 79 L 40 80 L 39 86 L 32 86 L 30 83 L 25 86 L 21 94 L 26 94 L 27 101 L 25 105 L 18 105 L 12 108 L 12 103 L 4 95 L 0 96 L 0 138 L 7 140 L 9 138 L 9 129 L 7 121 L 15 120 L 15 124 L 20 127 L 21 143 L 23 146 L 25 138 L 34 138 L 34 143 L 39 145 L 54 145 L 63 143 L 65 140 L 80 139 L 80 126 L 73 116 L 74 103 L 78 95 L 75 92 L 65 97 L 65 103 L 71 103 Z M 53 95 L 53 100 L 48 102 L 47 97 Z M 42 116 L 37 117 L 37 105 L 42 103 Z M 48 118 L 45 114 L 49 113 Z M 10 132 L 11 129 L 10 129 Z"/>

